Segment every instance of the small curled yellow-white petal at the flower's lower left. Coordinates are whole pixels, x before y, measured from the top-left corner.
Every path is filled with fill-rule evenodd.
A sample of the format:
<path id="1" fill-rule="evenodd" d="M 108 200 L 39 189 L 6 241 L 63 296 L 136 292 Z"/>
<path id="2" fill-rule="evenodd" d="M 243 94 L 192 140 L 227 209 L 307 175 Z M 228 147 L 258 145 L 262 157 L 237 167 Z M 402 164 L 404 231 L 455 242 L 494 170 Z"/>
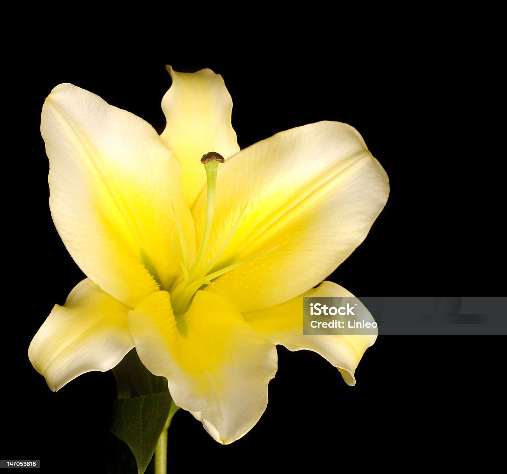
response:
<path id="1" fill-rule="evenodd" d="M 64 306 L 55 305 L 28 348 L 51 390 L 87 372 L 111 370 L 122 360 L 134 347 L 129 309 L 89 279 L 74 287 Z"/>

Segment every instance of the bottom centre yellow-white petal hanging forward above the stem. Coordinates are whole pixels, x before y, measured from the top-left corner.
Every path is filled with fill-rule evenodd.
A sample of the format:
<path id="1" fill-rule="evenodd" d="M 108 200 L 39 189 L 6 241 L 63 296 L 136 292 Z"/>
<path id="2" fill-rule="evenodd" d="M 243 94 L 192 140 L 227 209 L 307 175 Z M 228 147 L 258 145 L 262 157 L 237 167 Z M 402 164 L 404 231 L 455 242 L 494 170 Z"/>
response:
<path id="1" fill-rule="evenodd" d="M 169 294 L 159 291 L 130 312 L 129 324 L 144 366 L 168 379 L 174 403 L 216 441 L 232 443 L 256 425 L 276 373 L 276 349 L 230 302 L 198 291 L 176 320 Z"/>

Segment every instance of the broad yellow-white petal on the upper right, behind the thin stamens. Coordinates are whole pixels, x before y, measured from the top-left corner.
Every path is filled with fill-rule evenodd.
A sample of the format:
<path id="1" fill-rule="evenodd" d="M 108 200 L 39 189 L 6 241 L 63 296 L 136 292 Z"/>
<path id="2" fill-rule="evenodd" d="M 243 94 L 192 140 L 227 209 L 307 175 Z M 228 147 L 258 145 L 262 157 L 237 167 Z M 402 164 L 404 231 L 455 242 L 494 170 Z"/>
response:
<path id="1" fill-rule="evenodd" d="M 361 135 L 337 122 L 241 150 L 222 165 L 216 189 L 208 261 L 239 225 L 215 269 L 271 250 L 214 282 L 241 311 L 275 306 L 320 283 L 365 239 L 389 193 Z M 196 235 L 205 204 L 203 193 L 192 211 Z"/>

